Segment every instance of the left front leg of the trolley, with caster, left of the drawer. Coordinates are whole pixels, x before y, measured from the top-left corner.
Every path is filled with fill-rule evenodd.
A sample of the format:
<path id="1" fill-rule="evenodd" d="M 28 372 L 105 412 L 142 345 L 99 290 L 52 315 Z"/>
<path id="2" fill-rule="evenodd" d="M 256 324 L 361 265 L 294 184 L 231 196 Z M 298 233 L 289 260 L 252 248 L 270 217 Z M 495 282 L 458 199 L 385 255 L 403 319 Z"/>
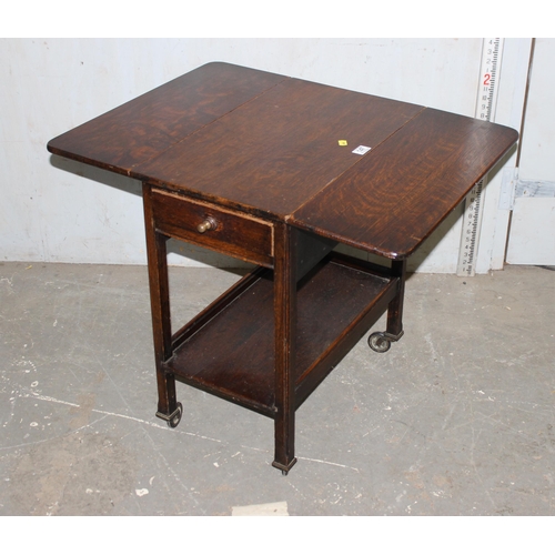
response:
<path id="1" fill-rule="evenodd" d="M 155 229 L 150 186 L 143 184 L 144 224 L 149 260 L 150 302 L 154 356 L 157 363 L 158 412 L 157 416 L 175 426 L 181 418 L 181 406 L 175 398 L 175 379 L 162 369 L 162 362 L 171 356 L 170 291 L 168 282 L 168 238 Z"/>

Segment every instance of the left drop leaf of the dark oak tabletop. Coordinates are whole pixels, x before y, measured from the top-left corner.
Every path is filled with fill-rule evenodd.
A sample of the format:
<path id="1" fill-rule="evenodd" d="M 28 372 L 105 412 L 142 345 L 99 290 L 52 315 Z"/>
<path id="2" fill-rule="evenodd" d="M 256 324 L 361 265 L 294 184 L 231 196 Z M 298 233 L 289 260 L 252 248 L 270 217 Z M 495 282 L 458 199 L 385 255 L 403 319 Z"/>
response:
<path id="1" fill-rule="evenodd" d="M 285 79 L 228 63 L 202 65 L 52 139 L 53 154 L 131 174 L 185 137 Z"/>

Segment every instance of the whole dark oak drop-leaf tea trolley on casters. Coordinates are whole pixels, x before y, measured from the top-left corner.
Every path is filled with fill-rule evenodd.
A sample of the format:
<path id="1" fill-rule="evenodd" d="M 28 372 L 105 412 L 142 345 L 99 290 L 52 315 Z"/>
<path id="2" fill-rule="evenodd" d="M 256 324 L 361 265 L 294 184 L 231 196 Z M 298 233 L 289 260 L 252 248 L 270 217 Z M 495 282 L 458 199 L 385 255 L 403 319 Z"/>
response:
<path id="1" fill-rule="evenodd" d="M 407 256 L 516 140 L 472 118 L 209 63 L 48 150 L 143 183 L 157 415 L 178 425 L 175 380 L 264 414 L 272 464 L 287 473 L 295 411 L 385 311 L 370 345 L 401 337 Z M 169 238 L 256 264 L 176 331 Z"/>

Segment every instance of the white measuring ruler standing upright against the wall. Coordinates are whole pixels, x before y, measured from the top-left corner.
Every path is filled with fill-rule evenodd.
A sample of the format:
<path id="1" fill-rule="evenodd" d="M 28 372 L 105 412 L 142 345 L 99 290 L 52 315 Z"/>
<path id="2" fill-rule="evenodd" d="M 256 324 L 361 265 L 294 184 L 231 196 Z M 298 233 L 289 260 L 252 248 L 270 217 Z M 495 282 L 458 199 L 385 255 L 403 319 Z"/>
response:
<path id="1" fill-rule="evenodd" d="M 484 39 L 480 84 L 476 99 L 475 117 L 492 121 L 497 103 L 497 77 L 503 52 L 503 39 Z M 464 204 L 463 230 L 458 250 L 457 275 L 472 276 L 476 273 L 476 254 L 484 210 L 484 185 L 486 178 L 478 181 L 468 193 Z"/>

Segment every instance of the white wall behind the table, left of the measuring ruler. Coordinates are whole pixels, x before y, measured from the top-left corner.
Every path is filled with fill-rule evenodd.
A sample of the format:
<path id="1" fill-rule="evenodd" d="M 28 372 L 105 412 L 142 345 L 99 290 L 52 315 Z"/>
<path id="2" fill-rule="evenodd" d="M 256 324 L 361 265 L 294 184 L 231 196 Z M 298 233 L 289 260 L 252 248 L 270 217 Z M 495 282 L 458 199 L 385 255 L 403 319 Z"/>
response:
<path id="1" fill-rule="evenodd" d="M 481 39 L 2 39 L 0 260 L 144 263 L 140 184 L 51 157 L 46 144 L 203 63 L 474 115 L 481 47 Z M 504 71 L 509 80 L 512 68 Z M 456 213 L 413 268 L 454 272 L 458 241 Z M 174 250 L 172 263 L 235 265 L 186 245 Z"/>

